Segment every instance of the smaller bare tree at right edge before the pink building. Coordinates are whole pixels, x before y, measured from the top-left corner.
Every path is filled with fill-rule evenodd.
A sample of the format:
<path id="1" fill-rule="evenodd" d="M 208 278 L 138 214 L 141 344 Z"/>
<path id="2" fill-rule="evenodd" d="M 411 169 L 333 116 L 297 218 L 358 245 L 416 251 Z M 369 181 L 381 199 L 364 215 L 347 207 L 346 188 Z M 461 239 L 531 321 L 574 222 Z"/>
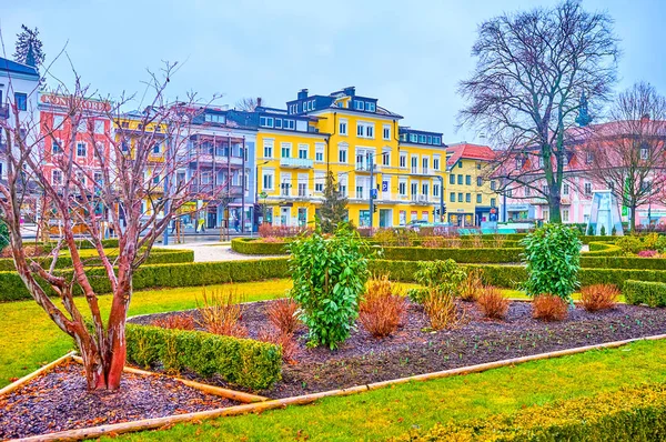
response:
<path id="1" fill-rule="evenodd" d="M 591 128 L 586 173 L 629 209 L 635 231 L 636 208 L 660 197 L 666 182 L 666 98 L 637 83 L 617 97 L 609 117 L 610 122 Z"/>

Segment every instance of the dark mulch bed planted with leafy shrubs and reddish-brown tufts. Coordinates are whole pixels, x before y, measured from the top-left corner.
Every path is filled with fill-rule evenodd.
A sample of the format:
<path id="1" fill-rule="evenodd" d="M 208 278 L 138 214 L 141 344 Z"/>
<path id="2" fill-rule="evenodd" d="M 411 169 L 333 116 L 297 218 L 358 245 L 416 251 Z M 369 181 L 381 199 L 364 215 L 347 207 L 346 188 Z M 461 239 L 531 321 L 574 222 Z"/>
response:
<path id="1" fill-rule="evenodd" d="M 268 322 L 268 302 L 244 305 L 242 323 L 255 339 Z M 327 391 L 484 362 L 545 353 L 555 350 L 620 341 L 666 333 L 666 310 L 618 304 L 615 309 L 589 313 L 569 310 L 562 322 L 532 318 L 532 305 L 512 302 L 504 321 L 484 319 L 474 303 L 457 303 L 464 318 L 453 330 L 430 331 L 421 305 L 411 303 L 404 325 L 385 339 L 375 339 L 362 327 L 354 330 L 339 350 L 306 348 L 306 330 L 296 333 L 296 362 L 284 363 L 283 380 L 262 391 L 269 398 L 287 398 Z M 138 317 L 130 322 L 150 324 L 159 317 L 192 314 L 196 311 Z M 184 376 L 196 379 L 191 373 Z M 213 376 L 206 383 L 228 385 Z M 233 388 L 233 385 L 232 385 Z M 239 388 L 235 388 L 239 390 Z"/>

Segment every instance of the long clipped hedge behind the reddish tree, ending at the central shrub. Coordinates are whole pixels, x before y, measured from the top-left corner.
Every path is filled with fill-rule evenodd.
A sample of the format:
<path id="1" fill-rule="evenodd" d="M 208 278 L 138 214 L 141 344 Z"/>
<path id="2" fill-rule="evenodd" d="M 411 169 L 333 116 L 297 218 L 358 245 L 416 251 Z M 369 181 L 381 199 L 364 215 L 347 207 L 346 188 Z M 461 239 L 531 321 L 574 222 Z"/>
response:
<path id="1" fill-rule="evenodd" d="M 71 270 L 58 273 L 71 278 Z M 110 293 L 111 284 L 102 268 L 87 271 L 95 293 Z M 134 273 L 134 290 L 162 287 L 211 285 L 225 282 L 261 281 L 272 278 L 287 278 L 286 258 L 272 258 L 261 261 L 191 262 L 180 264 L 142 265 Z M 40 282 L 51 295 L 49 287 Z M 80 294 L 80 291 L 75 291 Z M 140 294 L 139 294 L 140 295 Z M 0 302 L 29 299 L 30 293 L 17 272 L 0 272 Z"/>

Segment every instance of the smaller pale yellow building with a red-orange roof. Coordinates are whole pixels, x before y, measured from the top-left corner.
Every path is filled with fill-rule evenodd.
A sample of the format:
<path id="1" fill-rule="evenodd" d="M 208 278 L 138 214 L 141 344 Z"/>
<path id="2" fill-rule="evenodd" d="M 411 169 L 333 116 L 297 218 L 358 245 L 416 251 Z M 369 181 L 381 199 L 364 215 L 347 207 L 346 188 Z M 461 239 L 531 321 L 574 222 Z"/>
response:
<path id="1" fill-rule="evenodd" d="M 451 144 L 446 149 L 446 221 L 453 225 L 473 227 L 497 221 L 495 183 L 485 177 L 494 158 L 487 145 Z"/>

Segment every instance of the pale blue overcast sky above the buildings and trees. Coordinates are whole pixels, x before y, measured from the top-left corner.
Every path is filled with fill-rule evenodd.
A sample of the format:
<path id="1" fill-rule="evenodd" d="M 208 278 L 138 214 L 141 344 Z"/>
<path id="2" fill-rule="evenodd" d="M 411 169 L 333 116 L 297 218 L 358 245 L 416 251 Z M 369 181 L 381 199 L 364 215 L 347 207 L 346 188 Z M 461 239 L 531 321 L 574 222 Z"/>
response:
<path id="1" fill-rule="evenodd" d="M 327 94 L 347 86 L 404 117 L 401 124 L 440 131 L 446 143 L 484 142 L 457 128 L 465 106 L 457 84 L 474 69 L 478 24 L 503 12 L 554 0 L 3 0 L 3 57 L 22 23 L 38 27 L 47 63 L 63 49 L 82 81 L 103 96 L 142 97 L 148 70 L 180 63 L 168 94 L 194 91 L 234 106 L 262 97 L 284 108 L 300 89 Z M 666 1 L 583 0 L 605 10 L 622 40 L 616 90 L 636 81 L 666 93 Z M 51 72 L 71 81 L 60 57 Z M 137 101 L 137 107 L 139 102 Z"/>

